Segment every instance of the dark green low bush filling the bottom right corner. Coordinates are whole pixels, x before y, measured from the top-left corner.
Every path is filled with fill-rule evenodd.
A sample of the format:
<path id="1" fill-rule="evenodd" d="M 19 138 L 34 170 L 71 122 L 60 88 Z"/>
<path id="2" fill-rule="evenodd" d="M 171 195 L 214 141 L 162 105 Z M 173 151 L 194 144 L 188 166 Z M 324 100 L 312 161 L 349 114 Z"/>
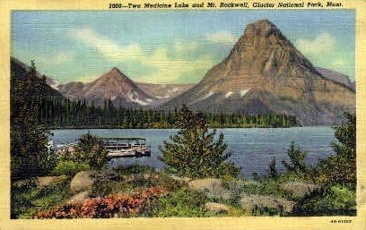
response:
<path id="1" fill-rule="evenodd" d="M 293 208 L 293 216 L 354 216 L 356 193 L 342 185 L 324 186 L 310 192 Z"/>

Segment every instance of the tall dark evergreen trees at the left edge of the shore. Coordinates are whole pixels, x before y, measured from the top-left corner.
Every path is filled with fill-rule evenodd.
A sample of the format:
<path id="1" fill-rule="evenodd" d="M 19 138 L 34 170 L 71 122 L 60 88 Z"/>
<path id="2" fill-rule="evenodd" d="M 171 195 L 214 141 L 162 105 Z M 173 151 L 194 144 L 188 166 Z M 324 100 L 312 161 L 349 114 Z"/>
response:
<path id="1" fill-rule="evenodd" d="M 39 101 L 46 92 L 38 79 L 34 62 L 20 81 L 11 75 L 11 172 L 12 179 L 45 175 L 55 166 L 57 158 L 48 151 L 48 134 L 39 124 Z M 31 82 L 36 83 L 31 83 Z M 38 90 L 34 84 L 39 84 Z"/>

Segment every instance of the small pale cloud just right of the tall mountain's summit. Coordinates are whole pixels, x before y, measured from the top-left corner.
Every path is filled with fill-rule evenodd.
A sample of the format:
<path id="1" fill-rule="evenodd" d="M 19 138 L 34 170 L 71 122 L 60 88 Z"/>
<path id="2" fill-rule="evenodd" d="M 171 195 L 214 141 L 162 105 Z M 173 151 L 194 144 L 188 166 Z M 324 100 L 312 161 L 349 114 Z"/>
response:
<path id="1" fill-rule="evenodd" d="M 329 33 L 321 33 L 314 39 L 300 38 L 296 45 L 305 55 L 321 55 L 335 49 L 335 38 Z"/>

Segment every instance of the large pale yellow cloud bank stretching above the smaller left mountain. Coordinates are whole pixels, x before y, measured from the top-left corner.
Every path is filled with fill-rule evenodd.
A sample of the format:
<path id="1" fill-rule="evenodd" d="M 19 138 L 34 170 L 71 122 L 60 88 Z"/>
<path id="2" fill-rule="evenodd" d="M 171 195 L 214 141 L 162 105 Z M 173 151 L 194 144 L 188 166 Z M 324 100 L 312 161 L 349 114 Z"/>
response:
<path id="1" fill-rule="evenodd" d="M 199 55 L 194 60 L 185 57 L 187 53 L 194 52 L 199 48 L 195 41 L 175 40 L 172 41 L 173 47 L 171 49 L 161 47 L 153 52 L 144 52 L 138 44 L 118 46 L 116 41 L 102 37 L 89 28 L 70 30 L 70 36 L 88 47 L 95 48 L 109 61 L 124 64 L 133 62 L 153 69 L 153 72 L 144 76 L 136 76 L 136 80 L 142 82 L 170 83 L 179 81 L 183 75 L 197 70 L 205 71 L 215 63 L 211 55 Z M 121 67 L 123 68 L 123 66 Z M 81 81 L 89 81 L 90 79 L 92 77 L 83 77 Z"/>

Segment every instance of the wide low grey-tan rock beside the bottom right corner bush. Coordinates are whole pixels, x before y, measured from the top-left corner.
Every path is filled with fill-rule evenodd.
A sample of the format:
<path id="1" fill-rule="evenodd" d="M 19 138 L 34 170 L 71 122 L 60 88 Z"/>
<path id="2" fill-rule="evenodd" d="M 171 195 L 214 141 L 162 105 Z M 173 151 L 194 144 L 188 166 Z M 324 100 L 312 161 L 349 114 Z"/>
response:
<path id="1" fill-rule="evenodd" d="M 292 200 L 263 195 L 245 194 L 242 195 L 240 199 L 242 209 L 254 209 L 257 206 L 257 208 L 270 208 L 289 212 L 292 210 L 294 204 L 295 202 Z"/>

